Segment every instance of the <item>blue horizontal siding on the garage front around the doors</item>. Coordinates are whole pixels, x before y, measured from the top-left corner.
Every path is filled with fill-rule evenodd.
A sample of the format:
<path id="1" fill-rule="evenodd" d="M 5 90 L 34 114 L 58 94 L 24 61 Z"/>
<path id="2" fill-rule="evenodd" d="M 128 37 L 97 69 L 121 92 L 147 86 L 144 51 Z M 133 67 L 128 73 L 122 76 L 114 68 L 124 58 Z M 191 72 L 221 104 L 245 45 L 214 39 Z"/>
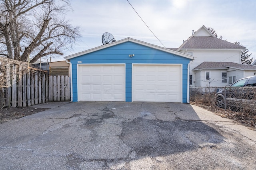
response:
<path id="1" fill-rule="evenodd" d="M 129 55 L 134 54 L 134 57 Z M 78 63 L 79 61 L 79 63 Z M 125 42 L 70 59 L 72 63 L 73 101 L 77 96 L 77 64 L 126 64 L 126 102 L 132 101 L 132 63 L 182 64 L 182 102 L 187 102 L 187 68 L 190 59 L 152 49 L 133 42 Z"/>

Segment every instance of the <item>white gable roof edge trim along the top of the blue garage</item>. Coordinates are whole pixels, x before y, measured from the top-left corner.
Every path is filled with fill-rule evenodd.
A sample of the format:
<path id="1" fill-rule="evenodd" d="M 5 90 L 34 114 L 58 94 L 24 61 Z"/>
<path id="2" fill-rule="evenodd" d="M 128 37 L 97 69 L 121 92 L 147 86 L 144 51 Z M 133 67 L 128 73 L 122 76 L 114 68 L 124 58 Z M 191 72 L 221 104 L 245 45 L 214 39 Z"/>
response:
<path id="1" fill-rule="evenodd" d="M 75 57 L 78 57 L 78 56 L 81 56 L 81 55 L 85 55 L 85 54 L 88 54 L 88 53 L 92 53 L 94 51 L 106 49 L 108 47 L 112 47 L 114 45 L 118 45 L 118 44 L 125 43 L 125 42 L 128 42 L 128 41 L 133 42 L 133 43 L 137 43 L 137 44 L 140 44 L 140 45 L 144 45 L 144 46 L 150 47 L 152 49 L 157 49 L 157 50 L 160 50 L 160 51 L 164 51 L 166 53 L 178 55 L 178 56 L 185 57 L 185 58 L 188 58 L 188 59 L 194 59 L 194 57 L 192 57 L 191 55 L 180 53 L 180 52 L 177 52 L 177 51 L 173 51 L 171 49 L 167 49 L 167 48 L 164 48 L 164 47 L 160 47 L 160 46 L 157 46 L 157 45 L 146 43 L 144 41 L 139 41 L 139 40 L 132 39 L 132 38 L 129 38 L 129 37 L 125 38 L 125 39 L 121 39 L 119 41 L 115 41 L 113 43 L 109 43 L 109 44 L 106 44 L 106 45 L 101 45 L 99 47 L 95 47 L 95 48 L 92 48 L 92 49 L 88 49 L 86 51 L 82 51 L 82 52 L 79 52 L 79 53 L 76 53 L 76 54 L 72 54 L 72 55 L 66 56 L 64 58 L 66 60 L 72 59 L 72 58 L 75 58 Z"/>

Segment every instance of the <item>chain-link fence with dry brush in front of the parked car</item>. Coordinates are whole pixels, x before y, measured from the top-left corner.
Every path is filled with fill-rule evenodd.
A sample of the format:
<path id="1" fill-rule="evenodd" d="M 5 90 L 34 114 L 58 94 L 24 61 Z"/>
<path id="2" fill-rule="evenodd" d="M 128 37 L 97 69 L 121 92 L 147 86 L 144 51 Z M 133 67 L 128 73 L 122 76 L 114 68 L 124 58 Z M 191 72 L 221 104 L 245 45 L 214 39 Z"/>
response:
<path id="1" fill-rule="evenodd" d="M 256 115 L 256 87 L 192 87 L 190 102 Z"/>

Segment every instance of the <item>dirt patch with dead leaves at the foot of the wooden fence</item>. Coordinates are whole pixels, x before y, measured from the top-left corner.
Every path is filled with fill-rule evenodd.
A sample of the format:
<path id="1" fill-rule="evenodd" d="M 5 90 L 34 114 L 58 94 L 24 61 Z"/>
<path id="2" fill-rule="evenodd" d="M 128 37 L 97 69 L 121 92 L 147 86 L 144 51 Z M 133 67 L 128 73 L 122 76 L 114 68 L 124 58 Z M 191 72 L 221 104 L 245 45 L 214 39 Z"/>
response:
<path id="1" fill-rule="evenodd" d="M 24 116 L 32 115 L 40 111 L 47 110 L 45 108 L 32 108 L 32 107 L 3 107 L 0 109 L 0 123 L 18 119 Z"/>

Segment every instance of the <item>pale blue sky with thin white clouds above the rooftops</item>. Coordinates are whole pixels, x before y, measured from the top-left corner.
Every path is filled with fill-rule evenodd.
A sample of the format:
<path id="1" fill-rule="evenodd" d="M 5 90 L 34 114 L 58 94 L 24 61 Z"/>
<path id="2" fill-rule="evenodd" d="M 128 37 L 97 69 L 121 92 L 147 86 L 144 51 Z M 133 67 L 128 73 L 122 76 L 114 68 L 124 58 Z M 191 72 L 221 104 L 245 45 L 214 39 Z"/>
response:
<path id="1" fill-rule="evenodd" d="M 127 37 L 161 47 L 179 47 L 202 25 L 218 36 L 239 41 L 256 59 L 256 0 L 70 0 L 66 19 L 80 27 L 82 37 L 63 57 L 102 45 L 102 34 L 116 41 Z M 164 44 L 164 46 L 162 45 Z M 63 57 L 52 61 L 64 60 Z"/>

